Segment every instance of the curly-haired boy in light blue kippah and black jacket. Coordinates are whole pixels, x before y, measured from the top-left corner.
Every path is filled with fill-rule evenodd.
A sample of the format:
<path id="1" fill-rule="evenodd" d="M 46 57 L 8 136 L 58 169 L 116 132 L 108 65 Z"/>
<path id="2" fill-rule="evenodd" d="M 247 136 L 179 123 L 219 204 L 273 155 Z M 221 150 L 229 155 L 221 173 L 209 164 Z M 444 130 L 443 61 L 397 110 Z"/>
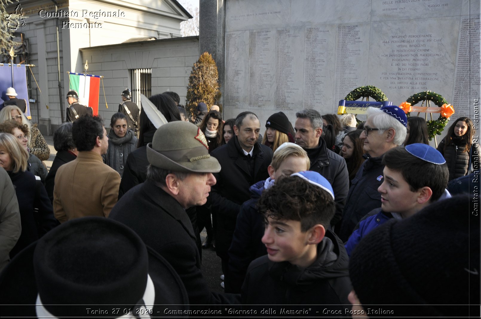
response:
<path id="1" fill-rule="evenodd" d="M 311 171 L 285 177 L 262 193 L 267 256 L 249 266 L 242 304 L 338 305 L 344 311 L 351 289 L 348 257 L 326 229 L 335 212 L 333 194 L 329 182 Z"/>

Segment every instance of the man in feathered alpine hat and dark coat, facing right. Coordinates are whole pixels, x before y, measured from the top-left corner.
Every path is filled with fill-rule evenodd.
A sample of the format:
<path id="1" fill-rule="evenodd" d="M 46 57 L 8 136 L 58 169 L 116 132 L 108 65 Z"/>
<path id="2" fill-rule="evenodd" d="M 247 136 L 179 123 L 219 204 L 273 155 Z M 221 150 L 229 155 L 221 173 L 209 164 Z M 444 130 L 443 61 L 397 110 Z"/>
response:
<path id="1" fill-rule="evenodd" d="M 122 196 L 109 218 L 126 224 L 167 259 L 184 283 L 191 305 L 239 303 L 238 295 L 209 291 L 185 211 L 205 204 L 215 184 L 212 173 L 220 171 L 202 131 L 184 121 L 162 125 L 147 145 L 147 159 L 147 180 Z"/>

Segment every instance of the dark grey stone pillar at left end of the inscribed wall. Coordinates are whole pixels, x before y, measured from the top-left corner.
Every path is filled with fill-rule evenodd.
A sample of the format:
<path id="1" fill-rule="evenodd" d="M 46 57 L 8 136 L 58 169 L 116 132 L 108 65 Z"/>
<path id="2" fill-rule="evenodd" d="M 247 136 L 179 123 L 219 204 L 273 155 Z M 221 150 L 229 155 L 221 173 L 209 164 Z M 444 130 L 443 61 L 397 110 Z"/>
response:
<path id="1" fill-rule="evenodd" d="M 219 89 L 222 93 L 220 103 L 224 105 L 226 0 L 199 2 L 199 54 L 209 52 L 217 64 Z"/>

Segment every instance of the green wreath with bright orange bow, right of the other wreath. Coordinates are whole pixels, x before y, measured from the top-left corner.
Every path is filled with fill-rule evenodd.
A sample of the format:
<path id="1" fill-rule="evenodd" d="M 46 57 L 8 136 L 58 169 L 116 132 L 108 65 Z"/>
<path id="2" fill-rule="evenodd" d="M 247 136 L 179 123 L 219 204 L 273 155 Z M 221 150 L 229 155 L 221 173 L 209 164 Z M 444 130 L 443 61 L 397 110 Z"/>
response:
<path id="1" fill-rule="evenodd" d="M 406 100 L 406 102 L 410 103 L 411 105 L 416 105 L 420 101 L 426 101 L 426 103 L 428 103 L 427 101 L 432 101 L 440 108 L 443 108 L 445 105 L 447 105 L 446 99 L 444 99 L 440 94 L 430 91 L 423 91 L 413 94 Z M 447 106 L 449 107 L 449 105 Z M 454 109 L 452 113 L 454 113 Z M 447 114 L 443 114 L 443 112 L 441 112 L 437 120 L 429 120 L 426 122 L 428 124 L 429 140 L 432 140 L 436 135 L 441 135 L 441 132 L 443 132 L 444 127 L 449 122 L 449 117 L 452 115 L 452 113 L 449 114 L 448 112 Z M 410 112 L 407 112 L 406 115 L 409 117 Z"/>

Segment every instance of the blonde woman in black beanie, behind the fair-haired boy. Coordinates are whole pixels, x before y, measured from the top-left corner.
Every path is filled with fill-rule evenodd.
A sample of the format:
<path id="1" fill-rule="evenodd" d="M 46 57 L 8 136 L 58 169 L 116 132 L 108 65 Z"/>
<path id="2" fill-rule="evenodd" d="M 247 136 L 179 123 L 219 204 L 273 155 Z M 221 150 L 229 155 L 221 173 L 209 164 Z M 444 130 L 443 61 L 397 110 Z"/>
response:
<path id="1" fill-rule="evenodd" d="M 292 124 L 286 114 L 277 112 L 269 116 L 266 121 L 266 132 L 262 144 L 270 147 L 273 152 L 286 142 L 294 143 Z"/>

